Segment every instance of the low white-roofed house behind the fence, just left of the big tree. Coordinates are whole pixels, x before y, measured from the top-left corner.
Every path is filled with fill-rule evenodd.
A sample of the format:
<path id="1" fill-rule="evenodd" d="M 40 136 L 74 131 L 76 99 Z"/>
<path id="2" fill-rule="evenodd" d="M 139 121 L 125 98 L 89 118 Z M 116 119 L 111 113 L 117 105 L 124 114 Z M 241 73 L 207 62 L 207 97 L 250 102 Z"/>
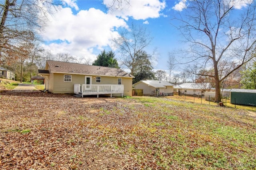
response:
<path id="1" fill-rule="evenodd" d="M 211 91 L 210 83 L 205 84 L 197 84 L 197 83 L 182 83 L 174 86 L 174 91 L 178 94 L 186 94 L 186 95 L 201 95 L 204 90 Z M 212 90 L 214 91 L 214 90 Z"/>

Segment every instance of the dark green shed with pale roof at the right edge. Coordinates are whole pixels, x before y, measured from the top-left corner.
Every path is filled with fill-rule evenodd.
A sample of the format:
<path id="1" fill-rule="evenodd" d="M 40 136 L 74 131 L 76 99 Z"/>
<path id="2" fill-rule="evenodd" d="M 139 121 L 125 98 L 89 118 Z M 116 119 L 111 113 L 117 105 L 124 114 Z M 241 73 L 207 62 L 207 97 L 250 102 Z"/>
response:
<path id="1" fill-rule="evenodd" d="M 230 91 L 230 103 L 246 106 L 256 106 L 256 90 L 232 89 Z"/>

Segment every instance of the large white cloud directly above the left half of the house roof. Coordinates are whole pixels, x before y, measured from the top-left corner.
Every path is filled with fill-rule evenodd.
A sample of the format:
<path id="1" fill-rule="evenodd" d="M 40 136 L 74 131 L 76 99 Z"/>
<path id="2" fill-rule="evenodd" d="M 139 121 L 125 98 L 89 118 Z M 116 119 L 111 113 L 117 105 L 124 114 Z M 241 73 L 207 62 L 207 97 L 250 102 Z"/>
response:
<path id="1" fill-rule="evenodd" d="M 120 27 L 128 25 L 123 19 L 95 8 L 81 10 L 76 15 L 71 8 L 62 8 L 42 33 L 46 40 L 44 48 L 53 54 L 70 53 L 95 59 L 92 50 L 110 45 L 111 39 L 119 35 L 116 29 Z"/>

